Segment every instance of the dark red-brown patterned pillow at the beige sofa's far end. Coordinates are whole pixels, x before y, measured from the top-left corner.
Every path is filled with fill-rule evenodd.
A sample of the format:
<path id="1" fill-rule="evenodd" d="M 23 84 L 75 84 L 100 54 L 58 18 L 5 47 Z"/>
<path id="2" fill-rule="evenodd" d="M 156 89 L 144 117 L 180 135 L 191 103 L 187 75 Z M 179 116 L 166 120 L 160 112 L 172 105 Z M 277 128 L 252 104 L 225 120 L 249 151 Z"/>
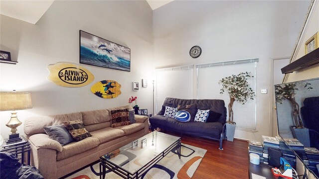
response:
<path id="1" fill-rule="evenodd" d="M 111 127 L 120 127 L 130 124 L 129 109 L 111 110 Z"/>

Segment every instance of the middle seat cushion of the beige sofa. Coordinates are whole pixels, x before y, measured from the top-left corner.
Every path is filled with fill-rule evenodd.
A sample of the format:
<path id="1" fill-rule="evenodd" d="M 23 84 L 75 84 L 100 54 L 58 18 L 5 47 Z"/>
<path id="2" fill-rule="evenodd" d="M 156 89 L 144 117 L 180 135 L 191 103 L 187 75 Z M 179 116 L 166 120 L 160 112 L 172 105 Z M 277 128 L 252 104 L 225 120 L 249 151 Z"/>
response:
<path id="1" fill-rule="evenodd" d="M 109 142 L 125 135 L 123 130 L 107 127 L 97 131 L 90 132 L 92 137 L 99 139 L 100 144 Z"/>

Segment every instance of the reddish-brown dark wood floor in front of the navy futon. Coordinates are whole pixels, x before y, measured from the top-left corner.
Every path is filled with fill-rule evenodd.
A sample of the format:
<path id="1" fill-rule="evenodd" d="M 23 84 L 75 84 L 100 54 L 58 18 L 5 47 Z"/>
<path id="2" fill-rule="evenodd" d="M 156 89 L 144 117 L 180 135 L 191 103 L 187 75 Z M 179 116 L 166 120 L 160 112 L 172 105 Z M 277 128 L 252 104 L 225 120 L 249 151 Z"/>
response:
<path id="1" fill-rule="evenodd" d="M 183 135 L 181 142 L 207 150 L 192 179 L 249 179 L 247 141 L 224 140 L 222 151 L 217 140 Z"/>

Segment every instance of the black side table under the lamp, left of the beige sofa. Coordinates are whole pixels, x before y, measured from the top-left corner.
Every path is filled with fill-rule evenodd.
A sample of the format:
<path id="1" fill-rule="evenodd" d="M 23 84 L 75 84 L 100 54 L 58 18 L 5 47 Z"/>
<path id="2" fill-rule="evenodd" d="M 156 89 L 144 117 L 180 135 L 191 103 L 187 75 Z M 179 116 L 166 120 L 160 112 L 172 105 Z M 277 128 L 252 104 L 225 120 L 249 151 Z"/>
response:
<path id="1" fill-rule="evenodd" d="M 15 155 L 18 159 L 21 160 L 21 164 L 24 164 L 25 154 L 27 155 L 26 165 L 30 165 L 30 143 L 26 139 L 26 137 L 21 136 L 22 141 L 6 144 L 7 139 L 3 142 L 0 152 L 8 152 Z"/>

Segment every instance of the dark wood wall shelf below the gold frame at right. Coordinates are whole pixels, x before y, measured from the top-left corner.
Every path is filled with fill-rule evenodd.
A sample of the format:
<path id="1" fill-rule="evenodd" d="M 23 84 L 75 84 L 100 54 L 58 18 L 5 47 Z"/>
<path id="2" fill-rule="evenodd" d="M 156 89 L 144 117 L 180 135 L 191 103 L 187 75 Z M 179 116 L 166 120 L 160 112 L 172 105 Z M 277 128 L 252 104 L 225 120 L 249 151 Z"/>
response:
<path id="1" fill-rule="evenodd" d="M 319 48 L 282 68 L 281 72 L 282 74 L 293 73 L 296 70 L 300 70 L 317 63 L 319 63 Z"/>

